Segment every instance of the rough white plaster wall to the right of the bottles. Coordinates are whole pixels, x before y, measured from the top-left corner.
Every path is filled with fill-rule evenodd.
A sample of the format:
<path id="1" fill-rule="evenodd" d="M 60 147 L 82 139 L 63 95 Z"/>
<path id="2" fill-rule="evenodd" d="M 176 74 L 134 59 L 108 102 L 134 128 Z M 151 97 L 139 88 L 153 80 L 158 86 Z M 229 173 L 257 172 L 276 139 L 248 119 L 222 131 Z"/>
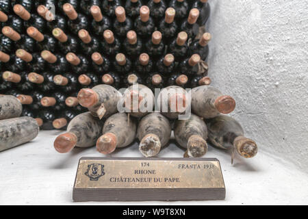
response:
<path id="1" fill-rule="evenodd" d="M 308 172 L 308 1 L 209 3 L 213 85 L 261 151 Z"/>

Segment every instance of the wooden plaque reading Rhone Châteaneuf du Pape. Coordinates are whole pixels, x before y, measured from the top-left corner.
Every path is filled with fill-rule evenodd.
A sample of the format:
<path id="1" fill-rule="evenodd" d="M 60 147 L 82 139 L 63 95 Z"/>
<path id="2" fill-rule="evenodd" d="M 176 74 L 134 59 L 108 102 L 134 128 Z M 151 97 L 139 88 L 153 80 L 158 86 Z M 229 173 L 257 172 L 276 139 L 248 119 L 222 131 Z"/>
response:
<path id="1" fill-rule="evenodd" d="M 73 201 L 224 200 L 214 158 L 103 158 L 79 160 Z"/>

